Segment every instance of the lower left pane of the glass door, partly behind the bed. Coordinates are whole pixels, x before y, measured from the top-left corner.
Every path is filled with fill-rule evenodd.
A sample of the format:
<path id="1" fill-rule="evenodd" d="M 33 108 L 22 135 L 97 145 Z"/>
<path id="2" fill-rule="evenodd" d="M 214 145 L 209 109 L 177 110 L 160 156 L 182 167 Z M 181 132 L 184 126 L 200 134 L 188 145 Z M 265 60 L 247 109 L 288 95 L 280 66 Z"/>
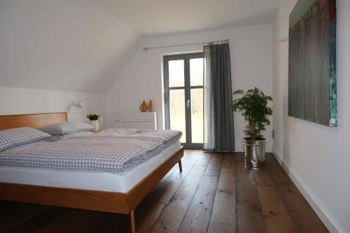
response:
<path id="1" fill-rule="evenodd" d="M 181 143 L 186 143 L 185 90 L 170 90 L 170 129 L 182 132 Z"/>

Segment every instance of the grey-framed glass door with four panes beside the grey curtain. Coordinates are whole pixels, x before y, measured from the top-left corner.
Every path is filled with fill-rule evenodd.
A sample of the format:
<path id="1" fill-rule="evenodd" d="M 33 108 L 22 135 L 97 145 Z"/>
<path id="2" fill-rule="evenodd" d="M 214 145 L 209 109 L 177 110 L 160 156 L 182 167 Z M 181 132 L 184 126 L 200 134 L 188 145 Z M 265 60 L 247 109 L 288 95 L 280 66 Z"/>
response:
<path id="1" fill-rule="evenodd" d="M 183 132 L 186 148 L 203 147 L 203 54 L 164 57 L 165 127 Z"/>

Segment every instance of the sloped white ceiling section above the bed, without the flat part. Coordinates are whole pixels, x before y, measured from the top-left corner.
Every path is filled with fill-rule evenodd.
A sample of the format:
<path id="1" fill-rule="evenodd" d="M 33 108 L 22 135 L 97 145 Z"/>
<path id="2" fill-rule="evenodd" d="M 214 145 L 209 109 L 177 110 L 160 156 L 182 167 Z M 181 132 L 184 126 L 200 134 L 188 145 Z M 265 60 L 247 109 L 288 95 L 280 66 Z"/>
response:
<path id="1" fill-rule="evenodd" d="M 1 0 L 0 86 L 107 92 L 141 36 L 90 0 Z"/>

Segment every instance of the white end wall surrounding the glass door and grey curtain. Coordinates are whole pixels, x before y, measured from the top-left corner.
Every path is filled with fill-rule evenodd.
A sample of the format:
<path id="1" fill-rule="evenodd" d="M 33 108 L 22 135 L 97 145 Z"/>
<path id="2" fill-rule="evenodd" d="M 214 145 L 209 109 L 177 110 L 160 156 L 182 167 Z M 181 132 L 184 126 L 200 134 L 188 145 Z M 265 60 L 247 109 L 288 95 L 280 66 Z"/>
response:
<path id="1" fill-rule="evenodd" d="M 266 94 L 272 94 L 272 27 L 270 24 L 262 24 L 145 38 L 108 93 L 109 111 L 137 111 L 142 100 L 152 99 L 158 114 L 158 129 L 162 129 L 162 56 L 202 51 L 203 45 L 148 52 L 142 48 L 222 39 L 230 39 L 233 90 L 247 90 L 256 86 Z M 243 150 L 241 139 L 244 137 L 244 125 L 241 116 L 235 114 L 236 150 L 240 151 Z M 266 133 L 267 150 L 272 147 L 271 130 L 269 127 Z"/>

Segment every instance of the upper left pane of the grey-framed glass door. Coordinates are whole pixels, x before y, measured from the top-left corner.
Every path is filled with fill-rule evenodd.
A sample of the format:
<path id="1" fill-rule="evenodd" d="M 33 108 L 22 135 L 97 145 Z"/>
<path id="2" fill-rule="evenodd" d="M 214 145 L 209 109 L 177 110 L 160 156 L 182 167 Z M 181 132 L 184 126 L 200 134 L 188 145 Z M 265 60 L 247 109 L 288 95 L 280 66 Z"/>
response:
<path id="1" fill-rule="evenodd" d="M 183 60 L 169 61 L 169 87 L 185 85 L 185 69 Z"/>

